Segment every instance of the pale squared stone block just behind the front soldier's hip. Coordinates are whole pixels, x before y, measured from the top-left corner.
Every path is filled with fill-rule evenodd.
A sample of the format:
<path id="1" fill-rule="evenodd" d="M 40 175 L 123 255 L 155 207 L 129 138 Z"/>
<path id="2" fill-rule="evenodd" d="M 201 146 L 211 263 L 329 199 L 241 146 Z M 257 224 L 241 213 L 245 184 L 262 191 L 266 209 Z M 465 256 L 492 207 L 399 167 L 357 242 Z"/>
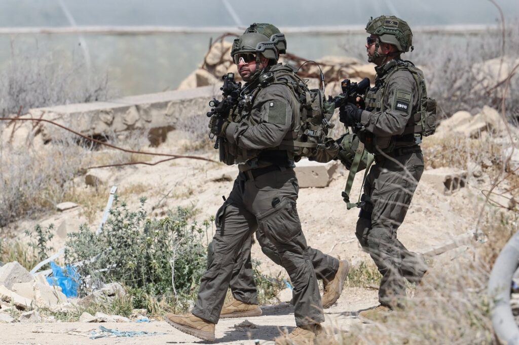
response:
<path id="1" fill-rule="evenodd" d="M 299 188 L 326 187 L 330 184 L 337 166 L 338 163 L 336 161 L 317 163 L 303 158 L 296 163 L 294 169 L 299 182 Z"/>

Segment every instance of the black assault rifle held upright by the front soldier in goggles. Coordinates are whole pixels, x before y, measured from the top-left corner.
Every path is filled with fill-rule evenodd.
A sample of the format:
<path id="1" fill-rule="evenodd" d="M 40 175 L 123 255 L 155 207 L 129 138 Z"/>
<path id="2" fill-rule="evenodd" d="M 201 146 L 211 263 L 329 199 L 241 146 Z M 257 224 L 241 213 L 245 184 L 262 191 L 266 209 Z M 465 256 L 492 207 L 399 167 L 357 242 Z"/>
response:
<path id="1" fill-rule="evenodd" d="M 222 90 L 223 99 L 218 101 L 216 98 L 213 98 L 209 102 L 209 107 L 211 107 L 211 111 L 207 112 L 207 117 L 216 116 L 218 121 L 225 121 L 227 116 L 229 115 L 229 111 L 238 104 L 241 93 L 241 82 L 236 83 L 234 81 L 234 73 L 227 73 L 222 76 L 222 80 L 224 81 L 224 85 L 220 88 Z M 213 137 L 209 135 L 212 139 Z M 220 147 L 220 143 L 223 140 L 221 137 L 216 137 L 216 141 L 214 142 L 214 148 L 218 149 Z"/>

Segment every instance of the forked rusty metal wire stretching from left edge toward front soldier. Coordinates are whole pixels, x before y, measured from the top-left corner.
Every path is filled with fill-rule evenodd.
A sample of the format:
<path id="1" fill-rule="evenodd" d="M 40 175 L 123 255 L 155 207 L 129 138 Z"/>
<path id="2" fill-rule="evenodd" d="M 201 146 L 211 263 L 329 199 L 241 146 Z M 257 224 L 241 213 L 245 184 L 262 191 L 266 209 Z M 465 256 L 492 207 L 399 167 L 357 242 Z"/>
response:
<path id="1" fill-rule="evenodd" d="M 167 161 L 171 161 L 171 160 L 176 160 L 178 158 L 188 158 L 188 159 L 192 159 L 192 160 L 200 160 L 200 161 L 207 161 L 207 162 L 216 163 L 216 161 L 211 160 L 210 158 L 200 157 L 200 156 L 178 155 L 178 154 L 157 153 L 157 152 L 147 152 L 147 151 L 134 151 L 134 150 L 128 150 L 128 149 L 120 148 L 120 147 L 117 147 L 117 146 L 112 145 L 110 143 L 107 143 L 107 142 L 104 142 L 104 141 L 101 141 L 101 140 L 98 140 L 98 139 L 90 138 L 90 137 L 88 137 L 86 135 L 83 135 L 83 134 L 81 134 L 81 133 L 79 133 L 79 132 L 69 128 L 69 127 L 60 125 L 59 123 L 56 123 L 56 122 L 53 122 L 53 121 L 50 121 L 50 120 L 46 120 L 44 118 L 0 117 L 0 121 L 11 121 L 11 122 L 13 122 L 13 121 L 47 122 L 47 123 L 50 123 L 50 124 L 52 124 L 54 126 L 58 126 L 58 127 L 63 128 L 65 130 L 67 130 L 67 131 L 70 131 L 73 134 L 75 134 L 75 135 L 77 135 L 77 136 L 79 136 L 81 138 L 84 138 L 86 140 L 89 140 L 89 141 L 95 142 L 97 144 L 104 145 L 104 146 L 107 146 L 107 147 L 110 147 L 112 149 L 119 150 L 119 151 L 122 151 L 122 152 L 135 153 L 135 154 L 145 154 L 145 155 L 151 155 L 151 156 L 170 157 L 170 158 L 168 158 L 166 160 L 161 160 L 161 161 L 158 161 L 158 162 L 155 162 L 155 163 L 131 162 L 131 163 L 111 164 L 111 165 L 102 165 L 102 166 L 88 167 L 88 168 L 86 168 L 87 170 L 88 169 L 93 169 L 93 168 L 106 168 L 106 167 L 126 166 L 126 165 L 135 165 L 135 164 L 157 165 L 159 163 L 163 163 L 163 162 L 167 162 Z"/>

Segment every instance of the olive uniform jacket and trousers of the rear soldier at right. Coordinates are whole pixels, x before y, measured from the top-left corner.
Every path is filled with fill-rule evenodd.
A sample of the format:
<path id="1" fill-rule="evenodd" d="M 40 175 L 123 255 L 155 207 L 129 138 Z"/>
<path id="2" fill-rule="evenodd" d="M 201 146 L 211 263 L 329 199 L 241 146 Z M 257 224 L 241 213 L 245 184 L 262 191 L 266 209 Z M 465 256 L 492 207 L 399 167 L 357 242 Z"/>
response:
<path id="1" fill-rule="evenodd" d="M 372 141 L 375 164 L 364 185 L 356 235 L 383 275 L 378 295 L 380 304 L 388 307 L 398 306 L 399 297 L 405 296 L 404 277 L 418 282 L 427 270 L 424 259 L 397 239 L 424 171 L 424 156 L 417 144 L 420 137 L 404 134 L 413 124 L 421 99 L 411 68 L 402 60 L 377 67 L 375 87 L 366 94 L 361 116 L 365 130 L 373 134 L 367 139 L 361 136 L 361 141 Z"/>

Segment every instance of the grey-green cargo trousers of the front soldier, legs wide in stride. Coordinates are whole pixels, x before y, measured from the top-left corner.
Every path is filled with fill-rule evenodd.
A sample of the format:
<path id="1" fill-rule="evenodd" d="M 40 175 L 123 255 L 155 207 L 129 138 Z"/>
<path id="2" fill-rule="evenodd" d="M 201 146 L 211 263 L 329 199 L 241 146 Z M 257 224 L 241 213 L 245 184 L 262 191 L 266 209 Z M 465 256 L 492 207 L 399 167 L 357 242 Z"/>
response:
<path id="1" fill-rule="evenodd" d="M 213 260 L 201 278 L 194 315 L 218 322 L 235 263 L 244 247 L 250 250 L 251 235 L 261 229 L 274 244 L 294 286 L 296 325 L 324 321 L 316 274 L 297 214 L 298 191 L 297 178 L 290 168 L 256 178 L 250 171 L 239 173 L 229 197 L 216 213 Z"/>

